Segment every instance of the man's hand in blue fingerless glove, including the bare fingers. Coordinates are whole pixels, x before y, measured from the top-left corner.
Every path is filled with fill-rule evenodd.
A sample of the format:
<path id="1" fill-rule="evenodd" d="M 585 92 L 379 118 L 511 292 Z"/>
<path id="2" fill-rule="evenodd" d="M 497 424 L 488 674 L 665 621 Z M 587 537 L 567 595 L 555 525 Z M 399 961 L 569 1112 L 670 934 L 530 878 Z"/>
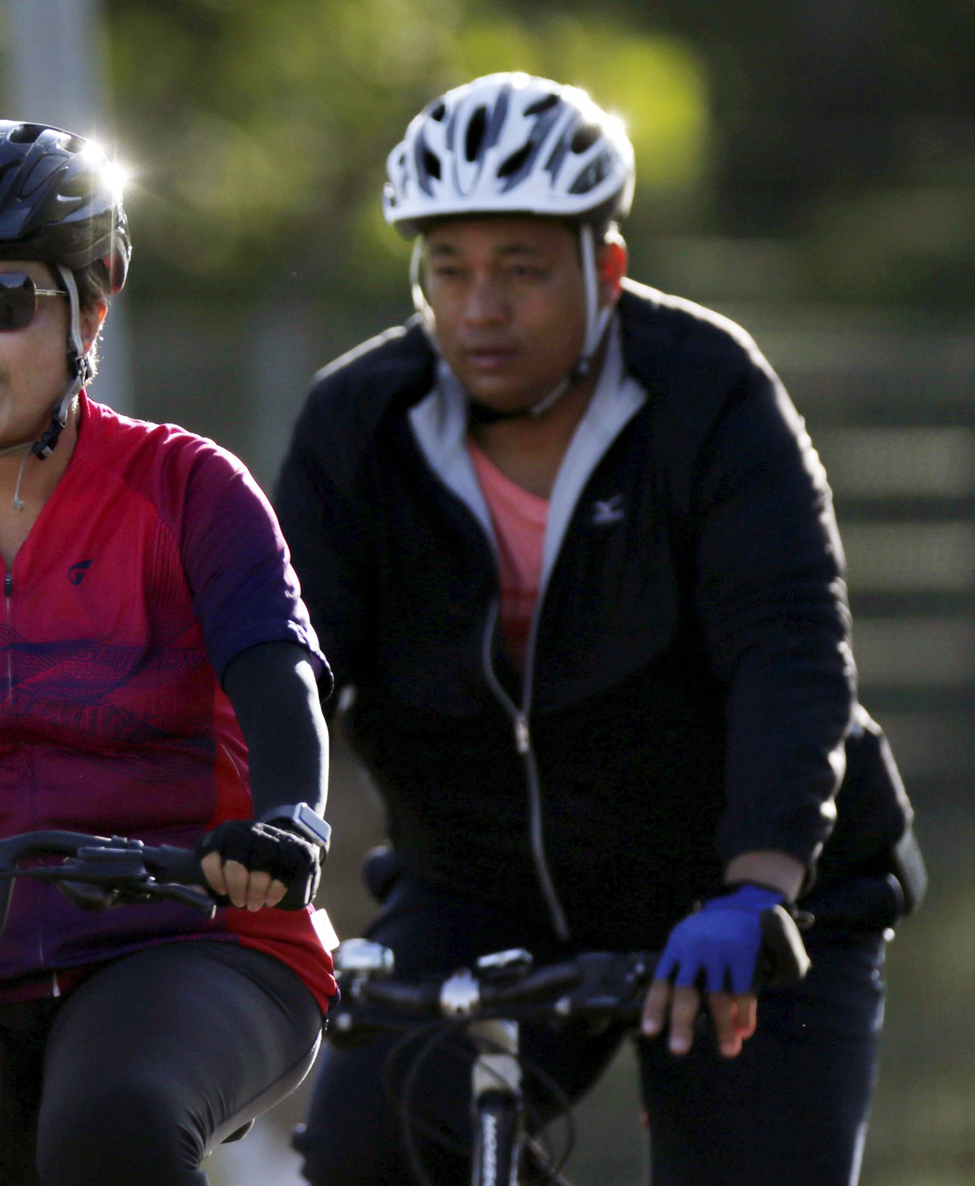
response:
<path id="1" fill-rule="evenodd" d="M 643 1008 L 643 1033 L 659 1034 L 669 1014 L 672 1054 L 693 1045 L 701 988 L 714 1021 L 718 1048 L 736 1058 L 757 1022 L 755 982 L 763 946 L 762 914 L 784 897 L 763 886 L 743 885 L 712 898 L 671 931 Z"/>

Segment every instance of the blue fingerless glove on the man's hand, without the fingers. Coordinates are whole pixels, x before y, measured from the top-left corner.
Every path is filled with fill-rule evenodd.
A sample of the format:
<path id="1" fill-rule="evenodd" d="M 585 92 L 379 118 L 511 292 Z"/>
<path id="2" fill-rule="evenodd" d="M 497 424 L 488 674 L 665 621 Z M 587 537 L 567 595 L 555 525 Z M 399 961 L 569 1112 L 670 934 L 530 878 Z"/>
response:
<path id="1" fill-rule="evenodd" d="M 655 980 L 706 993 L 751 993 L 762 950 L 762 913 L 785 901 L 764 886 L 743 885 L 711 898 L 671 931 Z"/>

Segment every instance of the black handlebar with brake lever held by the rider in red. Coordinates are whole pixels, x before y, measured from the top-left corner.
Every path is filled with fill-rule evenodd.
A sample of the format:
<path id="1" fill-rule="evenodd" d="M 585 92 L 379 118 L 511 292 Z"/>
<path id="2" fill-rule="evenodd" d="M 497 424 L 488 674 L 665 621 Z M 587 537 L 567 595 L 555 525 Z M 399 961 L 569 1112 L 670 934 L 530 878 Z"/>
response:
<path id="1" fill-rule="evenodd" d="M 64 856 L 62 865 L 20 868 L 38 856 Z M 31 831 L 0 840 L 0 935 L 7 924 L 13 881 L 28 876 L 57 885 L 76 905 L 105 910 L 160 899 L 194 906 L 213 917 L 229 899 L 210 888 L 200 859 L 190 848 L 172 844 L 146 846 L 121 836 L 94 836 L 75 831 Z M 301 910 L 309 885 L 293 882 L 277 910 Z"/>

